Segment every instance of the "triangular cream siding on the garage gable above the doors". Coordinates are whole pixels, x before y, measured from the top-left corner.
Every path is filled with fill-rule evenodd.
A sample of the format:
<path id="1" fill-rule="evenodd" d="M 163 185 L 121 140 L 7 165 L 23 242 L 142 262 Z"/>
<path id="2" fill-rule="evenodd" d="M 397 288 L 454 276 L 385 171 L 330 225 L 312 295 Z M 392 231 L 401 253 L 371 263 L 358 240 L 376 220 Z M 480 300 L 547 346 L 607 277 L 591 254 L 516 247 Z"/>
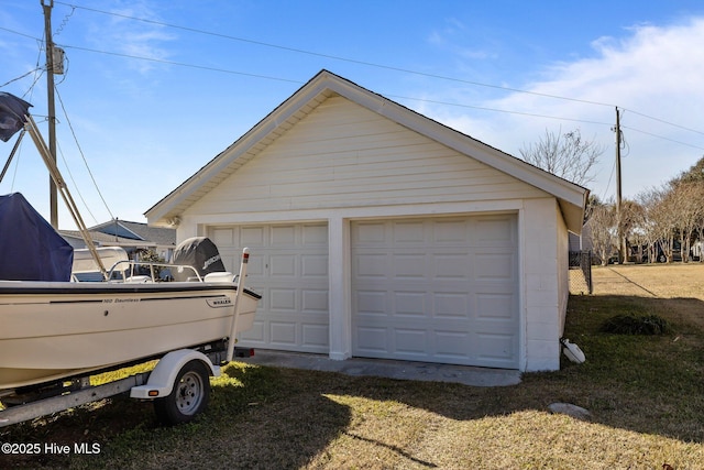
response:
<path id="1" fill-rule="evenodd" d="M 546 196 L 342 97 L 329 98 L 294 129 L 261 150 L 188 212 L 246 214 Z"/>

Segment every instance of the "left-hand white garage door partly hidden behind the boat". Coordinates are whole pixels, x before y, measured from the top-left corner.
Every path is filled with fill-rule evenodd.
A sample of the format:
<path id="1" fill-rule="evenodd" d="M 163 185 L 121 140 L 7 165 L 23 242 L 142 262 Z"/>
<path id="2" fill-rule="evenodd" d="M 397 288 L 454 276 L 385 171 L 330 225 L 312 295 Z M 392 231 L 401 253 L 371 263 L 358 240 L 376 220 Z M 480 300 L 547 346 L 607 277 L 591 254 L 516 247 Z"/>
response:
<path id="1" fill-rule="evenodd" d="M 242 248 L 250 248 L 246 285 L 263 297 L 240 346 L 329 351 L 327 225 L 213 227 L 208 233 L 235 273 Z"/>

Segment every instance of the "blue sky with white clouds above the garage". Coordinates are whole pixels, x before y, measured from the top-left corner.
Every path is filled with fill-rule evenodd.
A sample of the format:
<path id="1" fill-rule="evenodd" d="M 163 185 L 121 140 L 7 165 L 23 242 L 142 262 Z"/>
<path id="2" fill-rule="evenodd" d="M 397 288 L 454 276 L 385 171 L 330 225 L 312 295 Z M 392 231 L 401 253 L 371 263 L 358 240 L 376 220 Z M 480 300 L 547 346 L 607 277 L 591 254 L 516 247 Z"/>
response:
<path id="1" fill-rule="evenodd" d="M 146 221 L 322 68 L 515 156 L 546 131 L 579 128 L 605 147 L 586 185 L 603 199 L 616 187 L 616 106 L 624 196 L 704 156 L 698 0 L 53 3 L 67 57 L 59 167 L 88 226 Z M 44 64 L 43 30 L 40 0 L 2 1 L 0 90 L 32 102 L 45 130 L 46 78 L 22 77 Z M 0 164 L 13 142 L 0 142 Z M 47 182 L 25 139 L 0 194 L 21 192 L 48 218 Z M 59 208 L 61 228 L 73 228 Z"/>

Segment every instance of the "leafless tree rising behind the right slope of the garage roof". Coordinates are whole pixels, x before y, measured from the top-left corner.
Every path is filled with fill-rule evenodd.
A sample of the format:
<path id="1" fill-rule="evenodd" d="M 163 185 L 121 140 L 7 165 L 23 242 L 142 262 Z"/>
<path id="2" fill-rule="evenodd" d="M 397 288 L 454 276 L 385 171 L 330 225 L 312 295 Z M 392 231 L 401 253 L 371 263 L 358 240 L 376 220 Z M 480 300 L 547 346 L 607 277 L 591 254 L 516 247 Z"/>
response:
<path id="1" fill-rule="evenodd" d="M 591 172 L 604 151 L 604 145 L 582 139 L 579 128 L 566 133 L 560 128 L 558 133 L 546 129 L 540 141 L 520 149 L 520 155 L 539 168 L 583 186 L 594 181 Z"/>

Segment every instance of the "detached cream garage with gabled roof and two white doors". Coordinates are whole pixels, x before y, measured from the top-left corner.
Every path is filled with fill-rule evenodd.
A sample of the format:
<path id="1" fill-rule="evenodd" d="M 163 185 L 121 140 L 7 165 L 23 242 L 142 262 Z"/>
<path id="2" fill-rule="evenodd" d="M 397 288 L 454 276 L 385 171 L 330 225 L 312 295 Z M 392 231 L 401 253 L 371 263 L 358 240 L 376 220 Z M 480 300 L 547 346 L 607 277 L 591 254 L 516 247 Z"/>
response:
<path id="1" fill-rule="evenodd" d="M 145 215 L 250 248 L 243 346 L 538 371 L 587 196 L 322 70 Z"/>

